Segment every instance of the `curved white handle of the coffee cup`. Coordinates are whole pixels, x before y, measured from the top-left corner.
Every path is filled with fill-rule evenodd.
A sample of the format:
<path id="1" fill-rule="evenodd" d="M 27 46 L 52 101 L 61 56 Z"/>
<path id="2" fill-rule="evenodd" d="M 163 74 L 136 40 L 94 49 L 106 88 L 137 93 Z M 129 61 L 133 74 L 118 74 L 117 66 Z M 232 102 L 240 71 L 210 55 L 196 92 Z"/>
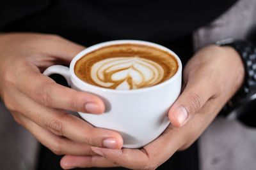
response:
<path id="1" fill-rule="evenodd" d="M 66 66 L 61 66 L 61 65 L 50 66 L 47 69 L 45 69 L 43 74 L 45 74 L 45 76 L 50 76 L 51 74 L 60 74 L 67 80 L 68 85 L 71 86 L 70 72 L 69 72 L 69 68 Z"/>

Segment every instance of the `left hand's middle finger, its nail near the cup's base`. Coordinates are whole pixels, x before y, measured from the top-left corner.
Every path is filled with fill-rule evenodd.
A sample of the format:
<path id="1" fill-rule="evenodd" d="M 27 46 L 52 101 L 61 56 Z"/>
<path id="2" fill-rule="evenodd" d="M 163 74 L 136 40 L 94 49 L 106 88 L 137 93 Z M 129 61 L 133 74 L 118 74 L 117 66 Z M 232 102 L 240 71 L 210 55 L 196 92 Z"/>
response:
<path id="1" fill-rule="evenodd" d="M 22 94 L 19 101 L 19 110 L 27 118 L 58 136 L 91 146 L 122 148 L 123 140 L 118 132 L 93 127 L 66 111 L 47 108 Z"/>

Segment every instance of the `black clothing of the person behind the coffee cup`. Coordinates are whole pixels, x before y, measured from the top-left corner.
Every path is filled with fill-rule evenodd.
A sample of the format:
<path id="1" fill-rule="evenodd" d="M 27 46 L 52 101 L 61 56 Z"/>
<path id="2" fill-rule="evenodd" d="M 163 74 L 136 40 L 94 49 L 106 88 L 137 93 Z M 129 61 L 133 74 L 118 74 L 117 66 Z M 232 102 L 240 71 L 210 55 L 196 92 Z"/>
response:
<path id="1" fill-rule="evenodd" d="M 193 55 L 191 33 L 236 1 L 1 0 L 0 32 L 58 34 L 84 46 L 141 39 L 172 49 L 185 65 Z M 60 157 L 42 148 L 38 170 L 60 169 L 54 166 L 60 164 L 58 160 Z M 175 153 L 158 169 L 199 169 L 197 143 Z"/>

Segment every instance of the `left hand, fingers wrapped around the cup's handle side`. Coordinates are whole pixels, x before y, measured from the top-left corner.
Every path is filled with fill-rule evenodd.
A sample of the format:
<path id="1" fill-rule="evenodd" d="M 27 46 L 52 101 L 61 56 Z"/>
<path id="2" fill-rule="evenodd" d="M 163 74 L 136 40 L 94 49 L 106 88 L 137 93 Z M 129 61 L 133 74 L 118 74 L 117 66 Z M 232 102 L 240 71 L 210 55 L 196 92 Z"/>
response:
<path id="1" fill-rule="evenodd" d="M 83 49 L 55 35 L 0 34 L 1 99 L 16 122 L 58 155 L 95 155 L 91 146 L 122 148 L 117 132 L 95 128 L 65 111 L 100 114 L 104 103 L 99 97 L 40 73 L 53 64 L 68 64 Z"/>

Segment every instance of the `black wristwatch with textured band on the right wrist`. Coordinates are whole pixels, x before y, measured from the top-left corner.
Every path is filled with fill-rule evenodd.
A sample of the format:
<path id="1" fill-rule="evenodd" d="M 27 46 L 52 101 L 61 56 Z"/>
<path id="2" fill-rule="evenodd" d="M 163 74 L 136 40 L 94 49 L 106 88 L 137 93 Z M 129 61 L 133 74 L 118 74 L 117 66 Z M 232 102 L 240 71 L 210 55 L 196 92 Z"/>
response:
<path id="1" fill-rule="evenodd" d="M 238 118 L 246 125 L 256 127 L 256 47 L 249 41 L 218 41 L 219 46 L 232 46 L 243 60 L 245 77 L 241 89 L 221 110 L 221 115 Z"/>

